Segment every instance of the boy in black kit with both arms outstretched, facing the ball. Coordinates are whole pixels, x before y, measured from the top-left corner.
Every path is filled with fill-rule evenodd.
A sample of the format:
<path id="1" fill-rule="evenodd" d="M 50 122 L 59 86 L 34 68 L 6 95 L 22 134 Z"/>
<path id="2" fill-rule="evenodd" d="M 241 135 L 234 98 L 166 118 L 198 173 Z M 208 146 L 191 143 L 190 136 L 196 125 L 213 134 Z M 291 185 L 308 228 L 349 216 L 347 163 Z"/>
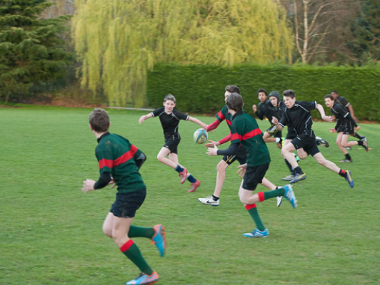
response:
<path id="1" fill-rule="evenodd" d="M 179 177 L 181 177 L 182 184 L 187 178 L 187 180 L 191 182 L 191 188 L 188 192 L 194 192 L 196 188 L 199 187 L 201 182 L 196 180 L 185 167 L 179 165 L 177 147 L 181 141 L 181 136 L 178 133 L 178 125 L 179 120 L 189 120 L 190 122 L 201 125 L 202 128 L 206 128 L 207 125 L 196 118 L 180 113 L 178 110 L 174 109 L 175 106 L 176 98 L 174 98 L 174 95 L 166 95 L 164 98 L 164 107 L 158 108 L 147 115 L 141 116 L 139 119 L 139 124 L 143 123 L 146 119 L 159 117 L 162 128 L 164 129 L 165 145 L 159 151 L 157 159 L 159 162 L 164 163 L 164 165 L 168 165 L 176 170 L 176 172 L 179 172 Z M 166 156 L 169 158 L 166 158 Z"/>

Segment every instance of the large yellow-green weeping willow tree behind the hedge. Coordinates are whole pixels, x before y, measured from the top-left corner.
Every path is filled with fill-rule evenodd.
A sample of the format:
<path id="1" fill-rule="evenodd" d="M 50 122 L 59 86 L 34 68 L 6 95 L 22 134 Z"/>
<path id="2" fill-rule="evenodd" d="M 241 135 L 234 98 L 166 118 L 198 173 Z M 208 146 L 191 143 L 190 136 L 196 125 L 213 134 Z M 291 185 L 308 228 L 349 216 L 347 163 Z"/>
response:
<path id="1" fill-rule="evenodd" d="M 78 0 L 73 31 L 81 82 L 111 105 L 144 104 L 156 62 L 213 64 L 291 60 L 284 9 L 273 0 Z"/>

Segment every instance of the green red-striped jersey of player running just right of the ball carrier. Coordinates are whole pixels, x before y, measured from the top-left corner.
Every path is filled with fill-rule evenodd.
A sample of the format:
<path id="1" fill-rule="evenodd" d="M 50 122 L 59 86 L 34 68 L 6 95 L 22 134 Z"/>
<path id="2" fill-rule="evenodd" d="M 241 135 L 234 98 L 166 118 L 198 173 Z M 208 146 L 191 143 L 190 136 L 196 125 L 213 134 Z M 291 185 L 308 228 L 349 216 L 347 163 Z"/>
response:
<path id="1" fill-rule="evenodd" d="M 271 162 L 259 125 L 244 111 L 236 113 L 232 118 L 231 143 L 236 142 L 240 142 L 246 149 L 247 166 L 259 166 Z"/>

